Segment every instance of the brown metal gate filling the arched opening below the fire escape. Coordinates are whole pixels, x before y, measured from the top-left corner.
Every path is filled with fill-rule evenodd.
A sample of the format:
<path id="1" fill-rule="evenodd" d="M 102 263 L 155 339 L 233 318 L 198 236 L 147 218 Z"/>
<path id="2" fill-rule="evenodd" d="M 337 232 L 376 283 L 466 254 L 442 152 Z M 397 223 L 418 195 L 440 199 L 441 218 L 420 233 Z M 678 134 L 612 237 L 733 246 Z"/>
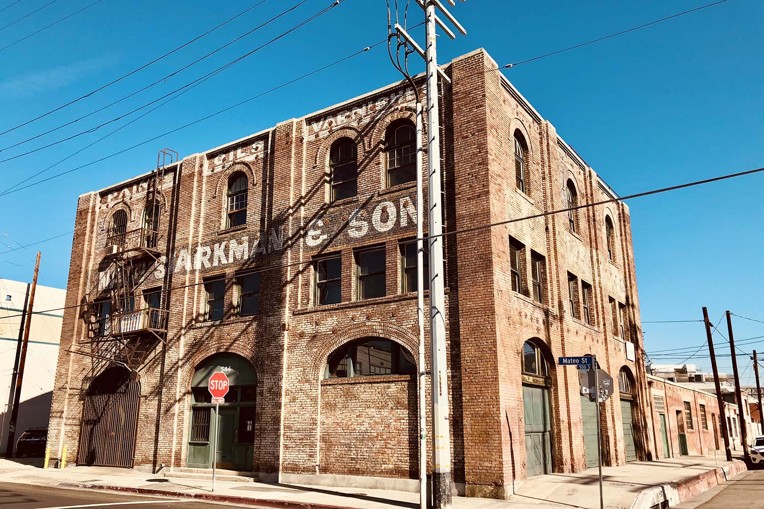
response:
<path id="1" fill-rule="evenodd" d="M 141 384 L 113 367 L 90 384 L 79 432 L 78 465 L 132 467 Z"/>

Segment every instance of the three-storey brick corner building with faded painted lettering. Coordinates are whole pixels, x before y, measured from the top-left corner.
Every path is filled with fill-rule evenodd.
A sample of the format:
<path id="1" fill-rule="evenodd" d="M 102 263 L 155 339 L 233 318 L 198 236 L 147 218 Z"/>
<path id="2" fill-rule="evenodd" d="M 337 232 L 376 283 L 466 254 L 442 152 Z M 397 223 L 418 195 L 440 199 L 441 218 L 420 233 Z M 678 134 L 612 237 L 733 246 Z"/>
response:
<path id="1" fill-rule="evenodd" d="M 563 355 L 620 382 L 606 464 L 649 459 L 629 209 L 539 215 L 617 196 L 483 50 L 444 68 L 446 230 L 536 216 L 445 238 L 455 488 L 503 498 L 596 464 Z M 223 369 L 218 466 L 416 489 L 413 111 L 388 85 L 82 195 L 53 456 L 208 468 L 206 376 Z"/>

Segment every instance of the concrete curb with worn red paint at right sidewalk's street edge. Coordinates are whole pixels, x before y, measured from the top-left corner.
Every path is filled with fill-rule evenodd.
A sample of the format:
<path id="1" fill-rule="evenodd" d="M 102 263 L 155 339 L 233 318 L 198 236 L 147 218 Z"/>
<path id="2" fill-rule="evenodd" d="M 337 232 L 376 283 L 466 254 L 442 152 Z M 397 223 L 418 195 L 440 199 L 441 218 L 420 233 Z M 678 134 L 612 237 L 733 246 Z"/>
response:
<path id="1" fill-rule="evenodd" d="M 746 464 L 738 459 L 733 460 L 731 465 L 720 466 L 716 469 L 691 475 L 677 482 L 646 488 L 636 495 L 630 509 L 650 509 L 663 501 L 669 501 L 669 507 L 674 507 L 683 501 L 693 498 L 704 491 L 728 481 L 742 472 L 746 472 Z"/>

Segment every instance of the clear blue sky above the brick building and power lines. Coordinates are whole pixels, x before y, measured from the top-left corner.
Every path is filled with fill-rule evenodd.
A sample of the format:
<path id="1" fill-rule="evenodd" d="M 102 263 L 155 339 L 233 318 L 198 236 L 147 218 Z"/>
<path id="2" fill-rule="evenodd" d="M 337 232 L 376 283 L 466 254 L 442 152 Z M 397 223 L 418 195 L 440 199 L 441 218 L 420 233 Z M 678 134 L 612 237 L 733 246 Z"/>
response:
<path id="1" fill-rule="evenodd" d="M 0 8 L 11 0 L 0 3 Z M 24 0 L 0 12 L 0 27 L 44 5 Z M 56 2 L 5 29 L 0 47 L 63 18 L 91 0 Z M 73 18 L 0 50 L 0 131 L 79 97 L 185 43 L 247 2 L 118 2 L 103 0 Z M 222 46 L 297 0 L 268 0 L 248 14 L 144 71 L 47 118 L 0 136 L 0 148 L 57 127 L 163 78 Z M 0 159 L 76 134 L 170 92 L 254 49 L 325 8 L 308 0 L 215 56 L 145 92 L 47 137 L 0 151 Z M 413 4 L 413 2 L 412 2 Z M 466 37 L 440 39 L 442 62 L 484 47 L 499 63 L 526 60 L 703 5 L 691 0 L 646 2 L 498 2 L 471 0 L 452 11 Z M 410 24 L 421 21 L 416 5 Z M 311 24 L 222 72 L 43 176 L 89 163 L 201 118 L 363 47 L 384 40 L 382 0 L 346 0 Z M 414 31 L 419 37 L 421 31 Z M 764 166 L 764 4 L 720 5 L 558 56 L 507 69 L 518 89 L 621 195 Z M 414 70 L 421 66 L 413 65 Z M 83 192 L 152 169 L 157 150 L 183 155 L 306 114 L 398 79 L 384 47 L 257 99 L 209 121 L 72 172 L 0 197 L 6 246 L 73 229 Z M 140 114 L 140 113 L 139 113 Z M 0 163 L 8 188 L 138 116 L 56 147 Z M 43 176 L 40 176 L 42 178 Z M 31 182 L 34 182 L 31 181 Z M 0 191 L 2 191 L 0 189 Z M 700 319 L 725 310 L 764 320 L 764 176 L 665 193 L 629 202 L 643 321 Z M 66 285 L 71 236 L 43 243 L 40 282 Z M 4 250 L 8 250 L 7 247 Z M 37 246 L 0 255 L 0 277 L 28 280 Z M 736 338 L 764 335 L 764 324 L 735 318 Z M 648 352 L 701 344 L 700 322 L 644 324 Z M 721 329 L 726 335 L 726 329 Z M 718 339 L 720 340 L 720 338 Z M 723 340 L 720 340 L 723 342 Z M 748 348 L 753 348 L 756 343 Z M 758 343 L 764 350 L 764 342 Z M 688 354 L 689 355 L 689 354 Z M 683 358 L 665 359 L 678 362 Z M 663 362 L 663 361 L 661 361 Z M 709 367 L 707 359 L 690 359 Z M 749 366 L 739 359 L 740 369 Z M 720 359 L 729 371 L 730 359 Z M 751 370 L 748 369 L 746 378 Z"/>

